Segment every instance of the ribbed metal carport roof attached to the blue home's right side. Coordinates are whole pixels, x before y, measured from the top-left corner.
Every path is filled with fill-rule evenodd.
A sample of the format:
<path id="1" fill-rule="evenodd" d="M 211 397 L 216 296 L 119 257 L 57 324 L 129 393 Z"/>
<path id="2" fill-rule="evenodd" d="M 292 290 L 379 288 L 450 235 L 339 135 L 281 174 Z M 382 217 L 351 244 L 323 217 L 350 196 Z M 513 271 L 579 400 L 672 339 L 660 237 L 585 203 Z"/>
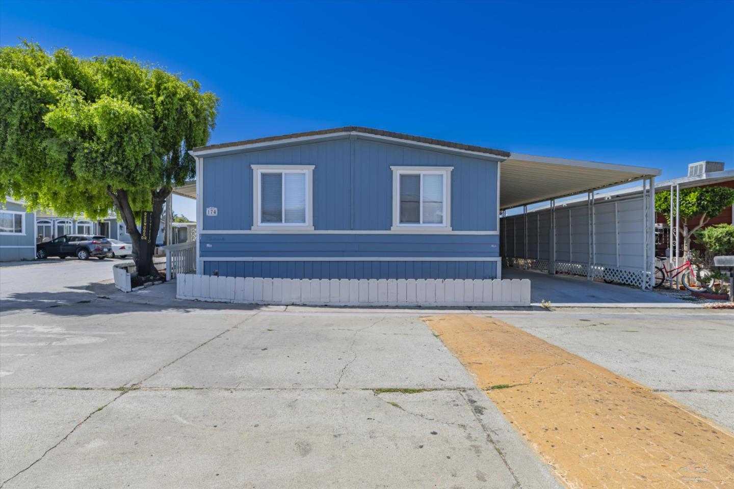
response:
<path id="1" fill-rule="evenodd" d="M 512 153 L 500 163 L 500 209 L 531 205 L 655 177 L 644 166 Z"/>

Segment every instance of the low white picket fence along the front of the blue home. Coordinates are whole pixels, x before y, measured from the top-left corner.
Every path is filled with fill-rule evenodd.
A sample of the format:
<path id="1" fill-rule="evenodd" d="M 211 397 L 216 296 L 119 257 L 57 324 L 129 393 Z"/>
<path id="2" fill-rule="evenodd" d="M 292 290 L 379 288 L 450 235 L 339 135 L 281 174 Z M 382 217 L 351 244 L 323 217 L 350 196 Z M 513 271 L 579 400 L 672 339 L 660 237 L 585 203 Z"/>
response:
<path id="1" fill-rule="evenodd" d="M 308 306 L 529 306 L 528 279 L 261 279 L 180 273 L 176 298 Z"/>

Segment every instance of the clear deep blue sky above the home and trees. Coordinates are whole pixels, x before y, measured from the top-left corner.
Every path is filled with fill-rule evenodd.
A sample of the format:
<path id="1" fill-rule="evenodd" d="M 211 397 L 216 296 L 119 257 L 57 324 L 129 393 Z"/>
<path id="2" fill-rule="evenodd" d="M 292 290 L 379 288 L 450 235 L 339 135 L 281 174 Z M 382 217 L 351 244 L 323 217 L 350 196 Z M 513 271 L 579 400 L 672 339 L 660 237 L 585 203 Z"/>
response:
<path id="1" fill-rule="evenodd" d="M 199 80 L 213 143 L 366 125 L 664 178 L 734 168 L 733 32 L 732 1 L 0 1 L 2 45 Z"/>

